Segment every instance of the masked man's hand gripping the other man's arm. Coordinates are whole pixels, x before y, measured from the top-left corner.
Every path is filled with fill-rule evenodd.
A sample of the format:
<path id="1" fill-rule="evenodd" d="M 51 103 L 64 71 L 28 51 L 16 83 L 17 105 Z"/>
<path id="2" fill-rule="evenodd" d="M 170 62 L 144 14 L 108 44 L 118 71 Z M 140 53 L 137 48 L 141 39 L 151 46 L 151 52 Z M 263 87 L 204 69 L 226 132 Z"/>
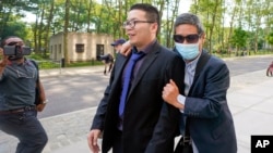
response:
<path id="1" fill-rule="evenodd" d="M 176 82 L 173 79 L 170 79 L 169 82 L 166 84 L 166 86 L 163 88 L 162 98 L 167 103 L 181 110 L 181 109 L 183 109 L 183 105 L 177 101 L 178 95 L 179 95 L 178 87 L 177 87 Z"/>

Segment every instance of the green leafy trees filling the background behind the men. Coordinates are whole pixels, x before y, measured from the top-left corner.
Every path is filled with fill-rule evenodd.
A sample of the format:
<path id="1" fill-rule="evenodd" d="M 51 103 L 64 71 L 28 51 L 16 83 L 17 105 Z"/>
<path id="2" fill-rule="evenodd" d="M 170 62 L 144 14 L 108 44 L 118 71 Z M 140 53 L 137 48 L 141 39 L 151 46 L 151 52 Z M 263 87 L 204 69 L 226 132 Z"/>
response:
<path id="1" fill-rule="evenodd" d="M 136 2 L 152 3 L 162 14 L 169 16 L 162 21 L 157 37 L 164 46 L 173 47 L 173 24 L 177 16 L 179 0 L 69 0 L 69 16 L 66 14 L 67 0 L 0 0 L 0 37 L 22 37 L 37 53 L 48 52 L 49 37 L 63 31 L 109 34 L 114 38 L 127 38 L 122 22 L 129 8 Z M 259 50 L 273 42 L 272 0 L 194 0 L 190 12 L 198 14 L 205 27 L 205 48 L 225 53 L 230 48 Z M 102 2 L 102 3 L 100 3 Z M 180 4 L 179 4 L 180 3 Z M 35 23 L 20 22 L 31 12 L 37 16 Z M 52 14 L 52 16 L 50 16 Z M 164 16 L 164 15 L 163 15 Z M 68 28 L 64 30 L 64 21 Z M 95 24 L 95 29 L 91 29 Z M 271 31 L 271 33 L 270 33 Z M 45 55 L 43 55 L 44 58 Z"/>

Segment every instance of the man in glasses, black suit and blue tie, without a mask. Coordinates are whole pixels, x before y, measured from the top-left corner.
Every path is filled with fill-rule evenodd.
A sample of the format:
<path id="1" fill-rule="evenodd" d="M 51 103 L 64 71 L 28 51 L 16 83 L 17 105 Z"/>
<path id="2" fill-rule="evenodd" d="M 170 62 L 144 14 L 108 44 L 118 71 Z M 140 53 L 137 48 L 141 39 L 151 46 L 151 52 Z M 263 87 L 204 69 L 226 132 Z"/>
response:
<path id="1" fill-rule="evenodd" d="M 182 87 L 182 61 L 162 47 L 156 35 L 161 27 L 156 8 L 139 3 L 131 7 L 123 26 L 133 46 L 129 56 L 117 55 L 109 86 L 106 88 L 92 128 L 90 149 L 99 152 L 97 139 L 103 132 L 102 152 L 169 153 L 178 131 L 179 110 L 164 103 L 162 90 L 169 79 Z M 129 63 L 135 54 L 144 56 L 133 68 L 122 109 Z"/>

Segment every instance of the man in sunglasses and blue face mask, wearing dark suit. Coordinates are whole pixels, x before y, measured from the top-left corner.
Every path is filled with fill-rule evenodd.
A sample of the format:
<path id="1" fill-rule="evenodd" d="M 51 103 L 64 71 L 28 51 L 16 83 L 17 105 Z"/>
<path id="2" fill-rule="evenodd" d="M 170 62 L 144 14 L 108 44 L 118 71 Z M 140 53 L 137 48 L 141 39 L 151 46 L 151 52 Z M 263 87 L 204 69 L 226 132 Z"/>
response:
<path id="1" fill-rule="evenodd" d="M 234 120 L 226 100 L 229 71 L 222 60 L 202 49 L 204 39 L 197 15 L 183 13 L 176 18 L 175 50 L 185 61 L 185 87 L 170 80 L 162 97 L 180 110 L 182 135 L 187 120 L 193 153 L 236 153 Z"/>

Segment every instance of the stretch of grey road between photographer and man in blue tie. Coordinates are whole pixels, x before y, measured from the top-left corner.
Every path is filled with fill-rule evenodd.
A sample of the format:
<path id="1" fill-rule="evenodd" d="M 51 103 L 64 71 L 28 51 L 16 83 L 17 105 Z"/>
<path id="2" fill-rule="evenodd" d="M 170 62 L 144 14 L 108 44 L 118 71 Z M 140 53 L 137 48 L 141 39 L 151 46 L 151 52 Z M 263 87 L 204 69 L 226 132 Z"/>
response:
<path id="1" fill-rule="evenodd" d="M 49 102 L 39 118 L 97 106 L 109 79 L 109 76 L 102 74 L 43 78 Z"/>

